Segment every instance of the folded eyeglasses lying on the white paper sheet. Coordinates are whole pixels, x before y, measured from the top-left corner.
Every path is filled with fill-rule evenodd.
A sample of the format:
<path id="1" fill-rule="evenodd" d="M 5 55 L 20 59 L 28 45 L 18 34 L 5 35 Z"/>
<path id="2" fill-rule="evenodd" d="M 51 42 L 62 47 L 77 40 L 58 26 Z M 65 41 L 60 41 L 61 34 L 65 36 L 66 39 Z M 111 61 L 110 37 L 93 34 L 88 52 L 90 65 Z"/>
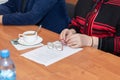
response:
<path id="1" fill-rule="evenodd" d="M 60 41 L 48 42 L 47 47 L 49 49 L 56 49 L 58 51 L 63 51 L 63 44 Z"/>

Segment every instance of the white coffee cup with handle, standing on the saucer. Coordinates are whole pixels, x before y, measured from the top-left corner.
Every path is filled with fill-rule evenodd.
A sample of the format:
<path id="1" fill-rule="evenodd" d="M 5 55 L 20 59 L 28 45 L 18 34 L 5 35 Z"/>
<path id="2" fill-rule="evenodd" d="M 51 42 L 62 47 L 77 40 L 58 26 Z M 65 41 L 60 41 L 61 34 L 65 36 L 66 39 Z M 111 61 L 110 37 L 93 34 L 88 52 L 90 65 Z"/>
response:
<path id="1" fill-rule="evenodd" d="M 23 34 L 19 34 L 19 39 L 23 39 L 26 43 L 34 43 L 37 38 L 37 32 L 35 31 L 25 31 Z"/>

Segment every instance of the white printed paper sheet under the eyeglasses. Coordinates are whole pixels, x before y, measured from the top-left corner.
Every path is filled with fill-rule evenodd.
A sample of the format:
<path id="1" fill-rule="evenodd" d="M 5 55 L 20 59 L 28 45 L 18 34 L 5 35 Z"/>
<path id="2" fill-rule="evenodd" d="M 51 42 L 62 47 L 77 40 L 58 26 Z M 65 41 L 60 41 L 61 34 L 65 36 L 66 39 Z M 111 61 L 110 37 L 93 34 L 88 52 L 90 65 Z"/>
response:
<path id="1" fill-rule="evenodd" d="M 57 51 L 56 49 L 49 49 L 46 45 L 44 45 L 30 52 L 26 52 L 21 56 L 39 64 L 48 66 L 63 58 L 75 54 L 80 50 L 82 50 L 82 48 L 73 49 L 68 46 L 64 46 L 63 51 Z"/>

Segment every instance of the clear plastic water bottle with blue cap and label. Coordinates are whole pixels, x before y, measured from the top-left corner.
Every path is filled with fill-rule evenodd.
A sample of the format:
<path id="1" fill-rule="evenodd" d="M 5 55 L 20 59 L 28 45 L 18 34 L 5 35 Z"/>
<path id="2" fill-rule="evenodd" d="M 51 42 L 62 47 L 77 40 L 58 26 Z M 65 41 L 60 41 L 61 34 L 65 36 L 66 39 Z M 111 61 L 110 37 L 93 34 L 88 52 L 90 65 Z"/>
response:
<path id="1" fill-rule="evenodd" d="M 15 65 L 10 59 L 9 50 L 1 50 L 0 52 L 0 80 L 16 80 Z"/>

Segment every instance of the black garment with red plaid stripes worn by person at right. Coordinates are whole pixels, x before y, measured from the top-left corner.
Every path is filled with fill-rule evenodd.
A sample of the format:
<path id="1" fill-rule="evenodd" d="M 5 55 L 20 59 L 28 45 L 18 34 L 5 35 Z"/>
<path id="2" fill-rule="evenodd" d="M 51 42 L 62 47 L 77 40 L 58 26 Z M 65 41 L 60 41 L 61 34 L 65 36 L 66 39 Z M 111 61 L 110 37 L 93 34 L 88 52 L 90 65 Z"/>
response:
<path id="1" fill-rule="evenodd" d="M 119 0 L 78 0 L 69 28 L 99 37 L 99 49 L 120 55 Z"/>

